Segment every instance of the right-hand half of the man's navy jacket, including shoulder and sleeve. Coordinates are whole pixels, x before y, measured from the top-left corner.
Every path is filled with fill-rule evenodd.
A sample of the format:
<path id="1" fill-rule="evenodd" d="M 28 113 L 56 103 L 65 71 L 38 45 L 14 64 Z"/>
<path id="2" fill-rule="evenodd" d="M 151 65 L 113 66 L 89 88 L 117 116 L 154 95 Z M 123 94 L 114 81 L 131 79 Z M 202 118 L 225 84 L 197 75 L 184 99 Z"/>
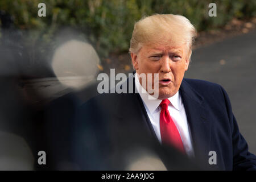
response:
<path id="1" fill-rule="evenodd" d="M 248 151 L 225 90 L 212 82 L 184 78 L 180 92 L 196 158 L 209 158 L 209 151 L 216 151 L 218 169 L 256 170 L 256 157 Z"/>

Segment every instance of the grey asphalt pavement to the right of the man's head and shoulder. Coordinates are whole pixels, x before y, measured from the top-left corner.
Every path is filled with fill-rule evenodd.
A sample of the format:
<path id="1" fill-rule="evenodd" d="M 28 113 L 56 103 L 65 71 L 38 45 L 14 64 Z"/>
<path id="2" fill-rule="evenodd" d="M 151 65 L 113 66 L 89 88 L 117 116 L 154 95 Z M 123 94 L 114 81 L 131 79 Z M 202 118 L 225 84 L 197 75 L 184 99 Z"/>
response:
<path id="1" fill-rule="evenodd" d="M 185 77 L 224 87 L 249 150 L 256 154 L 256 30 L 196 49 L 191 60 Z"/>

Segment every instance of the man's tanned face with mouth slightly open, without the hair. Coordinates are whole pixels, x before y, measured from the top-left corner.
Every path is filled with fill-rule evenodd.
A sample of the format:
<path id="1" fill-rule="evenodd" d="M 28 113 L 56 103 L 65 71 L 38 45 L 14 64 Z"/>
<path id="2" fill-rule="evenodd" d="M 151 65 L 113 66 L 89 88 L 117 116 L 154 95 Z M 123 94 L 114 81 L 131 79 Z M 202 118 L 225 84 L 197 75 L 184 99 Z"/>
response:
<path id="1" fill-rule="evenodd" d="M 147 84 L 152 82 L 153 89 L 154 73 L 159 73 L 158 99 L 164 100 L 174 96 L 180 88 L 189 64 L 187 51 L 185 45 L 179 47 L 145 45 L 137 54 L 131 53 L 131 59 L 138 75 L 152 73 L 152 80 L 147 80 Z"/>

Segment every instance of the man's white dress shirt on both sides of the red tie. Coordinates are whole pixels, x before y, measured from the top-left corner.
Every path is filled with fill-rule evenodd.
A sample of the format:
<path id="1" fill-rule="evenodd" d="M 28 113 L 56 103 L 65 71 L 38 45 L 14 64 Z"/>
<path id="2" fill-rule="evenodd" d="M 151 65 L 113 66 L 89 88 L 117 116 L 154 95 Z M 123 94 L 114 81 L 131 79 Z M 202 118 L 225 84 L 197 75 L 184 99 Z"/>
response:
<path id="1" fill-rule="evenodd" d="M 150 118 L 152 127 L 154 128 L 156 137 L 159 142 L 162 143 L 161 134 L 160 134 L 160 111 L 161 107 L 159 106 L 162 100 L 159 99 L 148 99 L 152 96 L 144 90 L 144 88 L 139 83 L 137 73 L 135 73 L 135 88 L 137 89 L 139 95 L 142 98 L 143 104 L 146 108 L 148 118 Z M 187 115 L 185 113 L 185 108 L 183 101 L 180 97 L 179 91 L 172 97 L 168 98 L 171 102 L 168 105 L 168 110 L 174 121 L 177 130 L 179 130 L 181 140 L 184 145 L 184 149 L 188 156 L 194 156 L 192 142 L 191 142 L 191 132 L 189 130 Z"/>

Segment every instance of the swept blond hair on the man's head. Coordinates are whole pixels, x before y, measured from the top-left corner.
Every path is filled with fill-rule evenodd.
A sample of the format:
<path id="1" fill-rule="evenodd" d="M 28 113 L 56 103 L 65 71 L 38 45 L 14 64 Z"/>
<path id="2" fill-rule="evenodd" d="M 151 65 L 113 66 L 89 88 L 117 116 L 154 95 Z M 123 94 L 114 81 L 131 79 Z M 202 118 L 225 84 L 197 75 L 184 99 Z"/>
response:
<path id="1" fill-rule="evenodd" d="M 154 14 L 140 19 L 134 24 L 129 52 L 138 53 L 145 44 L 187 44 L 189 58 L 192 43 L 196 38 L 196 28 L 181 15 Z"/>

